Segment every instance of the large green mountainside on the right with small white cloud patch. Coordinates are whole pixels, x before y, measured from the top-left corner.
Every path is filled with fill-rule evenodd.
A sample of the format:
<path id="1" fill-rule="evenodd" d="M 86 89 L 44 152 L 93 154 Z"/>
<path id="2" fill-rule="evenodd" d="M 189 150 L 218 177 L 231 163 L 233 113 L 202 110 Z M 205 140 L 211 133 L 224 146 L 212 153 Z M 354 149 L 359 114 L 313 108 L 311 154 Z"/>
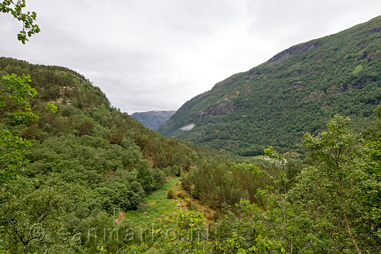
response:
<path id="1" fill-rule="evenodd" d="M 365 126 L 381 101 L 380 70 L 381 16 L 295 45 L 215 84 L 158 132 L 241 155 L 269 145 L 289 150 L 337 113 Z"/>

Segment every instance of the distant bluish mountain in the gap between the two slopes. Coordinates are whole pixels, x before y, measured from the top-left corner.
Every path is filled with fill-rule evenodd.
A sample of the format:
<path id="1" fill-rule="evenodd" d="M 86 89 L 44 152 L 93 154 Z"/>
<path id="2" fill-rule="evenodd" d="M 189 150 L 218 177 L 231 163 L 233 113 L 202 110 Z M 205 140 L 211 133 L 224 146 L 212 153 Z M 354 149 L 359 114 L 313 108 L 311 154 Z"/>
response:
<path id="1" fill-rule="evenodd" d="M 131 116 L 143 123 L 144 126 L 156 131 L 175 112 L 175 110 L 152 110 L 147 112 L 135 112 Z"/>

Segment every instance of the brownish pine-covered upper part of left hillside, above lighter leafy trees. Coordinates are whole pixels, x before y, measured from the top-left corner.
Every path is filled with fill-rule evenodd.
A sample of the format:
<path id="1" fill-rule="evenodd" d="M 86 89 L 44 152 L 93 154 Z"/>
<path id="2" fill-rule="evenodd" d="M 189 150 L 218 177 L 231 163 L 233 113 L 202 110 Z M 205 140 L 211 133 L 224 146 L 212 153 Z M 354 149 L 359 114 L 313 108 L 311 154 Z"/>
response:
<path id="1" fill-rule="evenodd" d="M 192 149 L 145 128 L 139 121 L 112 107 L 99 87 L 75 71 L 0 57 L 0 75 L 9 73 L 31 74 L 30 85 L 38 91 L 31 106 L 40 118 L 23 130 L 25 138 L 36 139 L 40 143 L 65 135 L 102 139 L 98 144 L 94 141 L 94 146 L 103 142 L 122 146 L 123 140 L 128 140 L 139 148 L 139 156 L 157 168 L 167 167 L 171 156 L 178 152 L 195 156 Z M 58 106 L 58 112 L 47 112 L 45 102 Z M 11 104 L 9 107 L 13 110 Z"/>

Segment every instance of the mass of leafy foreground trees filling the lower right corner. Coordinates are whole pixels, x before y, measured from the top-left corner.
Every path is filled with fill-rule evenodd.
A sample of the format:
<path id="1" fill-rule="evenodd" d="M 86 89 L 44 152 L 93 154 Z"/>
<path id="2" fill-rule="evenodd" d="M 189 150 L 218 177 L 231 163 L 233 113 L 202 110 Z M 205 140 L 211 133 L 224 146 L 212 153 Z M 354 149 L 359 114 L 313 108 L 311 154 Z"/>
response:
<path id="1" fill-rule="evenodd" d="M 305 134 L 303 145 L 312 163 L 291 185 L 287 161 L 271 147 L 265 153 L 275 158 L 276 168 L 235 165 L 273 182 L 257 190 L 261 205 L 247 200 L 239 204 L 237 216 L 253 221 L 248 223 L 255 228 L 251 240 L 238 230 L 225 245 L 233 241 L 245 246 L 240 253 L 378 253 L 381 143 L 379 139 L 365 142 L 349 130 L 349 121 L 335 115 L 326 131 Z M 238 252 L 236 247 L 225 247 L 230 251 L 225 253 Z"/>

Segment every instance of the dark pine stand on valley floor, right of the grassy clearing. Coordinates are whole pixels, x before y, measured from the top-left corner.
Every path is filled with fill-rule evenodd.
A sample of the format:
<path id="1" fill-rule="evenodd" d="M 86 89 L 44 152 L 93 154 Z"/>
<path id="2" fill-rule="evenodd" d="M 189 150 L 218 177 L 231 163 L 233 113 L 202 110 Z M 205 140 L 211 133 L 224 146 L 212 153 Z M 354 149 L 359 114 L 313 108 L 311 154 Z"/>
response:
<path id="1" fill-rule="evenodd" d="M 262 200 L 257 197 L 257 189 L 265 188 L 272 182 L 266 175 L 253 177 L 251 172 L 236 170 L 232 167 L 233 162 L 256 164 L 268 171 L 276 169 L 273 163 L 261 159 L 241 157 L 235 160 L 221 160 L 209 157 L 198 162 L 197 167 L 185 174 L 181 180 L 181 186 L 191 197 L 217 211 L 216 217 L 221 210 L 226 211 L 227 207 L 234 207 L 240 199 L 262 204 Z M 288 157 L 288 163 L 285 165 L 285 172 L 290 179 L 288 186 L 302 168 L 301 158 Z"/>

